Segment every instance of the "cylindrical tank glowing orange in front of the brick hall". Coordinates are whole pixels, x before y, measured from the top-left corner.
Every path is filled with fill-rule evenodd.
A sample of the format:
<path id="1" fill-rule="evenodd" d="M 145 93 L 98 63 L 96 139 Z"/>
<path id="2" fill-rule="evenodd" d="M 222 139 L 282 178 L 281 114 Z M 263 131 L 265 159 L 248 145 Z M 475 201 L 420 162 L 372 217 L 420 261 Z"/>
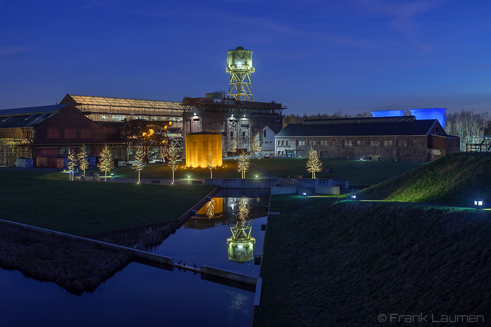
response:
<path id="1" fill-rule="evenodd" d="M 221 134 L 200 132 L 186 135 L 186 167 L 207 168 L 206 156 L 210 150 L 215 161 L 213 167 L 221 167 Z"/>

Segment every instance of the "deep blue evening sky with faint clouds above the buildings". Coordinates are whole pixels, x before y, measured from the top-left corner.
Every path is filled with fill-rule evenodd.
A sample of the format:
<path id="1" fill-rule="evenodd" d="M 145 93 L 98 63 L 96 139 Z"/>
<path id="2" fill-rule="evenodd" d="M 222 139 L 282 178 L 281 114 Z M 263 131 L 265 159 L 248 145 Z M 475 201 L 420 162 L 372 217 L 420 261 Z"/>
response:
<path id="1" fill-rule="evenodd" d="M 204 97 L 241 45 L 284 114 L 491 111 L 489 0 L 0 0 L 0 108 Z"/>

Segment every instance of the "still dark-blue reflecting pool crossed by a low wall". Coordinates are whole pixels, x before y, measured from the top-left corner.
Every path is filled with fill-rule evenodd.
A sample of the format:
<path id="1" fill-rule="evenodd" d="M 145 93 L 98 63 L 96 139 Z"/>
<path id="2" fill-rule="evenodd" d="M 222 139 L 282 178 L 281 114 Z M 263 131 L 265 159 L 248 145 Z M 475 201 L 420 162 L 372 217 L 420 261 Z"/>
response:
<path id="1" fill-rule="evenodd" d="M 209 202 L 150 251 L 190 266 L 258 276 L 253 255 L 263 247 L 261 224 L 266 223 L 269 190 L 220 191 Z M 201 279 L 200 274 L 137 262 L 82 296 L 0 268 L 0 294 L 0 326 L 9 327 L 242 327 L 249 325 L 254 300 L 253 292 Z"/>

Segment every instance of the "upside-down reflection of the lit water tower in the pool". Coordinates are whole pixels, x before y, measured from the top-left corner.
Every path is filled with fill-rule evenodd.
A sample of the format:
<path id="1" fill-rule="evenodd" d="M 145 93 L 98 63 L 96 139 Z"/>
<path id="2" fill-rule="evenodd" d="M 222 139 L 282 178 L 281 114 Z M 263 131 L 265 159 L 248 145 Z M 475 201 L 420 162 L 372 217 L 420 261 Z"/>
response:
<path id="1" fill-rule="evenodd" d="M 252 220 L 248 220 L 250 204 L 246 198 L 237 202 L 235 223 L 230 224 L 232 237 L 227 238 L 228 259 L 244 263 L 253 258 L 253 245 L 256 239 L 251 237 Z"/>

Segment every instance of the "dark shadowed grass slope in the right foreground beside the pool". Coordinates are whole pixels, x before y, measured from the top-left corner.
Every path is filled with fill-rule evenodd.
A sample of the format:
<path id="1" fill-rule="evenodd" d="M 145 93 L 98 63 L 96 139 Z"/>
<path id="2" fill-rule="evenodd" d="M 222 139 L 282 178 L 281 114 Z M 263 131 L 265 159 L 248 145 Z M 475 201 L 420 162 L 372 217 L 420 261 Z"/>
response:
<path id="1" fill-rule="evenodd" d="M 490 318 L 491 211 L 296 195 L 271 211 L 255 327 Z"/>

